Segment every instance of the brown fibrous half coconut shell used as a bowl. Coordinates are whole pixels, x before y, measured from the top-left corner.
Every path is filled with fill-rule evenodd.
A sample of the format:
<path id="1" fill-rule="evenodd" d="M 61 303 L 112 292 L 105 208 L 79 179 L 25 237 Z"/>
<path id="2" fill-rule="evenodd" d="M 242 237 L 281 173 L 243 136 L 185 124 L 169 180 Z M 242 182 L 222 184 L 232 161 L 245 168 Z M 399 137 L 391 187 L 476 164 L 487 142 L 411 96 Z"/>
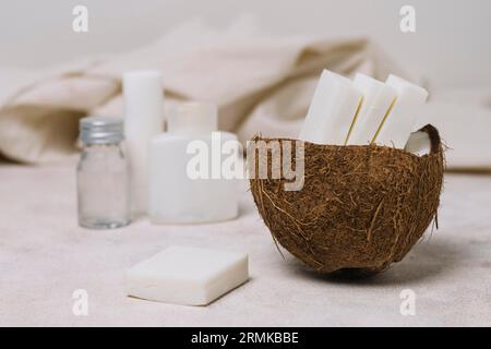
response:
<path id="1" fill-rule="evenodd" d="M 275 242 L 321 273 L 381 272 L 403 260 L 433 219 L 438 227 L 443 147 L 435 128 L 421 131 L 432 142 L 423 156 L 379 145 L 304 142 L 301 191 L 285 191 L 284 178 L 251 178 L 254 202 Z M 295 164 L 295 147 L 291 158 Z M 250 166 L 258 169 L 259 160 Z M 263 160 L 272 166 L 270 156 Z"/>

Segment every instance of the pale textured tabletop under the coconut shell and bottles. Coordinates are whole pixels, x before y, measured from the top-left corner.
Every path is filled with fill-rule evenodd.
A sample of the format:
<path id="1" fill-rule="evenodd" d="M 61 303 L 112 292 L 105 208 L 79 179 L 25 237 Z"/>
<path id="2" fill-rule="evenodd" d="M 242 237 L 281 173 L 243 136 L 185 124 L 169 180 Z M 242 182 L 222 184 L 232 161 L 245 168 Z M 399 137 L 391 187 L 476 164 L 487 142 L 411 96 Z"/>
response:
<path id="1" fill-rule="evenodd" d="M 72 166 L 0 166 L 0 325 L 491 325 L 491 176 L 447 174 L 440 230 L 373 279 L 319 277 L 284 261 L 244 192 L 240 218 L 202 226 L 140 220 L 76 226 Z M 206 308 L 124 296 L 124 272 L 170 244 L 246 251 L 251 279 Z M 72 313 L 75 289 L 88 315 Z M 416 315 L 399 312 L 416 294 Z"/>

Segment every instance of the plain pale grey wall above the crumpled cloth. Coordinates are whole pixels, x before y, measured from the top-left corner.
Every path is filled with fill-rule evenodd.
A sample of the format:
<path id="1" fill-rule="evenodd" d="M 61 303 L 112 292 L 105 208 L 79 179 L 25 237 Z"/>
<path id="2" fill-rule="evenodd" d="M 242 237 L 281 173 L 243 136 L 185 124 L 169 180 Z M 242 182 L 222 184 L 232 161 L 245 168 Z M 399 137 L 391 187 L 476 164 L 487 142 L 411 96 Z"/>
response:
<path id="1" fill-rule="evenodd" d="M 0 0 L 0 65 L 52 65 L 124 52 L 185 20 L 223 26 L 243 13 L 278 34 L 368 35 L 406 70 L 434 86 L 491 85 L 490 0 Z M 72 32 L 84 4 L 89 33 Z M 399 31 L 399 9 L 416 8 L 417 32 Z M 1 79 L 1 76 L 0 76 Z"/>

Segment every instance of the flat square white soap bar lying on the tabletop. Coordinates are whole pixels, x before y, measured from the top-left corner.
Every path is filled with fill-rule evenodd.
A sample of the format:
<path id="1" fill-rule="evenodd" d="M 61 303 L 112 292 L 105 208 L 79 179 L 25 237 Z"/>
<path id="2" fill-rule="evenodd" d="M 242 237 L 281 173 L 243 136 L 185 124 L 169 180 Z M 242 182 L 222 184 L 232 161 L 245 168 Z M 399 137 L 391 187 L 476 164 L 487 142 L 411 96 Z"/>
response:
<path id="1" fill-rule="evenodd" d="M 127 273 L 127 294 L 184 305 L 205 305 L 249 278 L 248 255 L 170 246 Z"/>

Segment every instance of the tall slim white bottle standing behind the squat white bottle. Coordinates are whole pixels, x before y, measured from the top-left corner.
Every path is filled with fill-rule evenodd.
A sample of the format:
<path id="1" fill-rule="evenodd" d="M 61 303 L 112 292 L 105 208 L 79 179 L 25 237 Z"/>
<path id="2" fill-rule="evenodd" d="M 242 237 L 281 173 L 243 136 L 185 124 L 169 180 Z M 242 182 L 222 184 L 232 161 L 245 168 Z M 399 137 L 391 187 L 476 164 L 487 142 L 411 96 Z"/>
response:
<path id="1" fill-rule="evenodd" d="M 141 216 L 148 212 L 148 143 L 164 131 L 161 73 L 124 73 L 123 96 L 131 208 L 134 216 Z"/>

